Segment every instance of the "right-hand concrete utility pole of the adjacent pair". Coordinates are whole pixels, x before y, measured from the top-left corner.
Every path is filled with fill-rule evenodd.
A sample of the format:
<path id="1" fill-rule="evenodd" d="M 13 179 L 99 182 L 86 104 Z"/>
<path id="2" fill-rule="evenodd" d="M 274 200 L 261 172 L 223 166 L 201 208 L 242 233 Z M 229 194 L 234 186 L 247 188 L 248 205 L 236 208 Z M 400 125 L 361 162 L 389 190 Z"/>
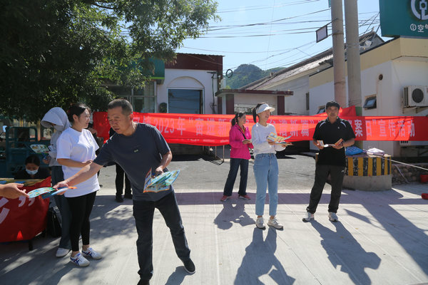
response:
<path id="1" fill-rule="evenodd" d="M 360 37 L 358 36 L 357 0 L 345 0 L 346 53 L 348 76 L 348 103 L 355 105 L 357 115 L 361 110 Z"/>

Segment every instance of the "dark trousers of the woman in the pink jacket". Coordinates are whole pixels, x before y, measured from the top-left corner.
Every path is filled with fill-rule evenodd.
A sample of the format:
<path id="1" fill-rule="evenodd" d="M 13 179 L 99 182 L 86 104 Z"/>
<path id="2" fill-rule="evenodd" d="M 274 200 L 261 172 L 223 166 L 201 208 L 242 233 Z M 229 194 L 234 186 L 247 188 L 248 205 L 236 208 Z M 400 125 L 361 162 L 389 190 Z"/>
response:
<path id="1" fill-rule="evenodd" d="M 241 171 L 238 195 L 247 195 L 248 160 L 243 158 L 230 158 L 230 170 L 228 179 L 226 180 L 225 189 L 223 190 L 223 195 L 232 195 L 233 185 L 235 184 L 239 167 L 241 168 Z"/>

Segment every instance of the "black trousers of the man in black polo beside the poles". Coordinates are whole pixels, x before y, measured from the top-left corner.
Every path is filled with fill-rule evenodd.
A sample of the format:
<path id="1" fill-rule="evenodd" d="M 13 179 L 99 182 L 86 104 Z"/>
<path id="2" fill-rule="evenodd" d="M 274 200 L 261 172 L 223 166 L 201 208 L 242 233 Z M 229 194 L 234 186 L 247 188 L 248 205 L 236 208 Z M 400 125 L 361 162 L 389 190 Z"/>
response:
<path id="1" fill-rule="evenodd" d="M 322 190 L 330 173 L 332 183 L 332 194 L 330 204 L 328 204 L 328 212 L 337 212 L 339 209 L 340 194 L 342 193 L 343 176 L 345 175 L 345 167 L 337 165 L 317 165 L 315 168 L 315 182 L 310 192 L 310 202 L 307 206 L 307 212 L 314 214 L 317 211 L 318 203 L 320 202 Z"/>

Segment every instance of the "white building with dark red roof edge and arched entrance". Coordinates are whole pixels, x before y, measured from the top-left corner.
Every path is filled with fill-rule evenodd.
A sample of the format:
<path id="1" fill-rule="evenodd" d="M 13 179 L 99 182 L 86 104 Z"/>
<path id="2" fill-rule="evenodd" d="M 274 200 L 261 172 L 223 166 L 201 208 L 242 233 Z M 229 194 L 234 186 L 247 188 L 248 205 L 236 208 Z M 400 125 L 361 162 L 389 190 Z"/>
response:
<path id="1" fill-rule="evenodd" d="M 215 92 L 222 76 L 223 56 L 178 53 L 173 63 L 154 63 L 152 81 L 144 88 L 107 88 L 127 98 L 138 113 L 216 112 Z"/>

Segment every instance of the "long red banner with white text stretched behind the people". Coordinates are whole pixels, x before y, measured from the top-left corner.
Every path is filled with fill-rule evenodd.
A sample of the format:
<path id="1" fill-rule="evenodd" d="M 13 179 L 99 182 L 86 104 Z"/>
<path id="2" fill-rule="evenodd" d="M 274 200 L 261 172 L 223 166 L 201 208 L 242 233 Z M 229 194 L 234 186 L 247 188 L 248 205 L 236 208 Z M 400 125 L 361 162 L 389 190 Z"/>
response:
<path id="1" fill-rule="evenodd" d="M 195 115 L 172 113 L 133 113 L 134 121 L 154 125 L 168 143 L 185 145 L 227 145 L 230 120 L 233 115 Z M 312 140 L 315 125 L 325 120 L 325 115 L 271 115 L 268 123 L 275 125 L 277 134 L 292 141 Z M 343 116 L 354 130 L 356 140 L 428 140 L 428 118 L 422 116 L 362 117 Z M 247 115 L 248 128 L 254 125 Z M 110 125 L 107 113 L 93 113 L 93 126 L 98 136 L 108 138 Z"/>

